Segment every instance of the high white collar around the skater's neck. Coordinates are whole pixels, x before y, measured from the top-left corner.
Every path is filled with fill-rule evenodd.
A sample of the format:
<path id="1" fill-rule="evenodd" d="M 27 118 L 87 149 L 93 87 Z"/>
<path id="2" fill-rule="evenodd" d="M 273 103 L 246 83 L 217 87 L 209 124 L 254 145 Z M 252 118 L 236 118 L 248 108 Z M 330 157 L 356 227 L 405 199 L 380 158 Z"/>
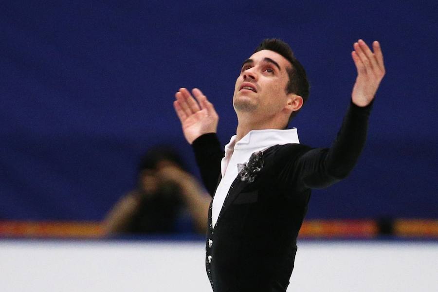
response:
<path id="1" fill-rule="evenodd" d="M 231 137 L 230 143 L 225 146 L 225 152 L 229 150 L 243 150 L 274 145 L 299 144 L 296 128 L 279 130 L 263 129 L 251 130 L 236 143 L 237 135 Z"/>

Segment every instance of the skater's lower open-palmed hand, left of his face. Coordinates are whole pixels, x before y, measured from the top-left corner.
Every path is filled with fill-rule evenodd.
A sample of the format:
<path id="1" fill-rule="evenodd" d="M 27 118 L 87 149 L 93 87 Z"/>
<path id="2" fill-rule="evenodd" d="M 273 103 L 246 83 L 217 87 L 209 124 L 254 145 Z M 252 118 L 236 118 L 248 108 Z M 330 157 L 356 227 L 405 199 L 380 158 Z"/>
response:
<path id="1" fill-rule="evenodd" d="M 184 137 L 189 144 L 202 134 L 216 133 L 219 121 L 219 116 L 207 97 L 197 88 L 192 93 L 196 100 L 187 89 L 181 88 L 175 94 L 176 100 L 173 102 Z"/>

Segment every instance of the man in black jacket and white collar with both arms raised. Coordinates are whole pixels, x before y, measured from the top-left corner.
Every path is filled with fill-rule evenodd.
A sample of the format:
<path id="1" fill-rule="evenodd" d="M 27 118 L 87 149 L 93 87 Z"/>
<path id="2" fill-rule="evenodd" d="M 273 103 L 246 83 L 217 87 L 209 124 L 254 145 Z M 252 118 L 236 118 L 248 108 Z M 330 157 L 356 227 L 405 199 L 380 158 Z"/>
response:
<path id="1" fill-rule="evenodd" d="M 289 119 L 309 92 L 306 73 L 281 40 L 264 40 L 243 63 L 233 97 L 236 135 L 225 146 L 216 137 L 218 115 L 194 89 L 176 93 L 175 110 L 193 146 L 207 190 L 206 268 L 215 292 L 284 292 L 292 274 L 296 237 L 312 188 L 345 178 L 365 144 L 371 103 L 384 75 L 377 41 L 359 40 L 350 107 L 330 148 L 298 141 Z M 217 180 L 219 177 L 219 184 Z"/>

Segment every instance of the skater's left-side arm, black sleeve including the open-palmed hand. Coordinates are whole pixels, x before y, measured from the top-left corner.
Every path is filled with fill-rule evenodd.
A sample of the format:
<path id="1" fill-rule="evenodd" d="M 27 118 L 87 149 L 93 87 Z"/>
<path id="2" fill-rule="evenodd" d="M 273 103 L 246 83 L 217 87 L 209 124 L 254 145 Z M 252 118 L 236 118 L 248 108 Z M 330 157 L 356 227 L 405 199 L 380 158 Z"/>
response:
<path id="1" fill-rule="evenodd" d="M 202 181 L 209 194 L 214 195 L 220 175 L 220 161 L 223 158 L 216 136 L 219 116 L 213 105 L 199 89 L 193 95 L 181 88 L 173 103 L 180 119 L 184 137 L 193 146 L 196 161 L 201 171 Z"/>

